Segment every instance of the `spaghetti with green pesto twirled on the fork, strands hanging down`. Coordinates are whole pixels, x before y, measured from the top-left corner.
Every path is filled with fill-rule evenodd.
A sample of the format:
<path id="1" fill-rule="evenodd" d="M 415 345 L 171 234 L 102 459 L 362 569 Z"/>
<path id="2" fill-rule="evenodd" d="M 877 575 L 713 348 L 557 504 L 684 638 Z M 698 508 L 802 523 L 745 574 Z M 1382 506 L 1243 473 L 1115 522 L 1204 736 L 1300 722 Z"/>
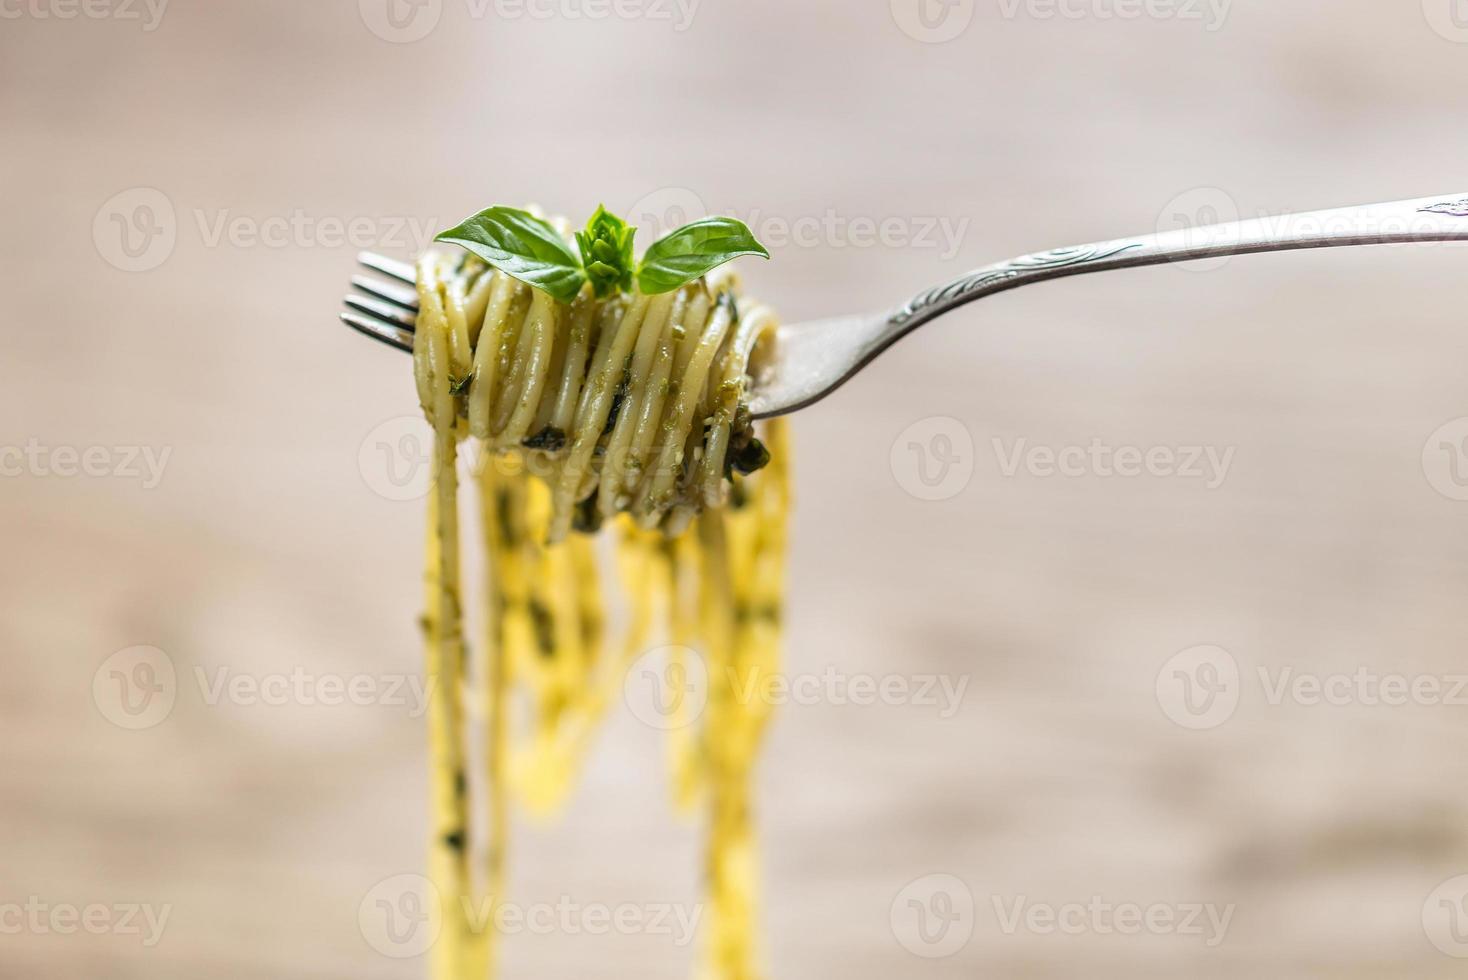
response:
<path id="1" fill-rule="evenodd" d="M 763 425 L 766 449 L 743 405 L 775 321 L 735 289 L 731 276 L 605 299 L 587 286 L 562 304 L 474 257 L 418 261 L 414 374 L 436 443 L 424 632 L 439 692 L 437 980 L 492 974 L 492 929 L 468 910 L 501 898 L 509 802 L 561 802 L 659 624 L 672 656 L 703 660 L 709 685 L 700 716 L 669 725 L 674 795 L 702 801 L 708 822 L 706 974 L 759 976 L 749 779 L 768 706 L 738 692 L 778 669 L 788 446 L 777 420 Z M 479 657 L 459 575 L 457 461 L 468 439 L 480 447 L 487 574 Z M 630 600 L 611 638 L 592 538 L 571 533 L 608 518 Z M 468 723 L 471 704 L 483 726 Z"/>

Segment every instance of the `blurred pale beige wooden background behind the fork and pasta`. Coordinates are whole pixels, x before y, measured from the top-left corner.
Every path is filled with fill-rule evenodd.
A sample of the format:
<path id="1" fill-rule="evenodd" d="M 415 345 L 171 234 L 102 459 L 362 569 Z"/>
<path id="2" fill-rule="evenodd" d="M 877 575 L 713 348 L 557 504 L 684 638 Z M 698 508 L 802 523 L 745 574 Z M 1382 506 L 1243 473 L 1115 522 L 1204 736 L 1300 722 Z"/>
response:
<path id="1" fill-rule="evenodd" d="M 417 669 L 421 505 L 358 465 L 414 411 L 408 365 L 335 324 L 354 249 L 323 244 L 323 220 L 366 219 L 396 254 L 393 219 L 584 214 L 666 188 L 759 210 L 766 233 L 828 211 L 962 222 L 953 254 L 835 235 L 744 270 L 790 320 L 885 305 L 1199 201 L 1468 189 L 1468 45 L 1420 7 L 1238 0 L 1205 31 L 981 3 L 945 44 L 887 3 L 835 0 L 706 0 L 686 31 L 445 0 L 411 44 L 349 0 L 175 0 L 151 32 L 4 21 L 0 445 L 170 456 L 153 489 L 0 480 L 0 905 L 172 914 L 153 948 L 3 933 L 0 974 L 423 976 L 358 929 L 370 889 L 421 866 L 421 722 L 210 704 L 197 681 Z M 94 242 L 132 188 L 175 213 L 150 271 Z M 1195 188 L 1213 191 L 1176 202 Z M 282 246 L 236 233 L 295 213 Z M 1422 468 L 1430 434 L 1468 415 L 1462 273 L 1461 251 L 1390 248 L 1067 280 L 925 329 L 797 418 L 791 670 L 967 688 L 950 717 L 781 709 L 759 780 L 772 976 L 1461 976 L 1424 902 L 1468 873 L 1465 709 L 1271 704 L 1258 670 L 1468 670 L 1468 503 Z M 935 417 L 972 439 L 972 478 L 925 502 L 893 450 Z M 1233 456 L 1213 490 L 1007 477 L 992 440 L 1017 439 Z M 92 681 L 138 644 L 167 653 L 178 701 L 125 731 Z M 1230 651 L 1242 695 L 1186 731 L 1155 685 L 1199 644 Z M 565 819 L 518 829 L 511 898 L 696 901 L 697 833 L 668 816 L 662 758 L 621 712 Z M 934 873 L 975 904 L 947 958 L 893 927 Z M 1092 896 L 1235 913 L 1213 948 L 1010 935 L 995 913 Z M 683 977 L 690 958 L 655 935 L 505 948 L 512 977 Z"/>

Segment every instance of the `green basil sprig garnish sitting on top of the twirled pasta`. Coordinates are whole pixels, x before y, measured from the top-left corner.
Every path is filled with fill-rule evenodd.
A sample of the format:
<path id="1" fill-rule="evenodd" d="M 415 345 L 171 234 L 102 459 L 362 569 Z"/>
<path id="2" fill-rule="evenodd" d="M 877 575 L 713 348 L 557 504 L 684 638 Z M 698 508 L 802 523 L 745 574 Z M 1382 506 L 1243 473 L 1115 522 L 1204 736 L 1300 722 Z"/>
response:
<path id="1" fill-rule="evenodd" d="M 664 235 L 633 263 L 637 229 L 605 207 L 575 233 L 580 255 L 545 219 L 509 207 L 492 207 L 439 233 L 435 241 L 459 245 L 506 276 L 571 302 L 581 286 L 603 299 L 631 292 L 672 292 L 740 255 L 769 252 L 749 227 L 731 217 L 706 217 Z"/>

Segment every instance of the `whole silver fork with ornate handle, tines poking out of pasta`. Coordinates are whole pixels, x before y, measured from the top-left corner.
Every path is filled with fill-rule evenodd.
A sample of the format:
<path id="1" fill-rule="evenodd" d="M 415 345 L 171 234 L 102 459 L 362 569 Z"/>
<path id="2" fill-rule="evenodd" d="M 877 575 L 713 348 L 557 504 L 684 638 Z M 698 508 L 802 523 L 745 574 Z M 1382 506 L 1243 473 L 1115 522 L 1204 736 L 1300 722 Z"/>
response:
<path id="1" fill-rule="evenodd" d="M 1340 245 L 1468 241 L 1468 194 L 1304 211 L 1072 245 L 984 266 L 926 289 L 897 310 L 780 327 L 775 362 L 753 379 L 755 418 L 806 408 L 849 381 L 882 351 L 929 320 L 994 293 L 1063 276 L 1161 263 Z M 354 276 L 342 320 L 370 337 L 413 351 L 418 298 L 407 263 L 363 252 L 358 261 L 388 280 Z"/>

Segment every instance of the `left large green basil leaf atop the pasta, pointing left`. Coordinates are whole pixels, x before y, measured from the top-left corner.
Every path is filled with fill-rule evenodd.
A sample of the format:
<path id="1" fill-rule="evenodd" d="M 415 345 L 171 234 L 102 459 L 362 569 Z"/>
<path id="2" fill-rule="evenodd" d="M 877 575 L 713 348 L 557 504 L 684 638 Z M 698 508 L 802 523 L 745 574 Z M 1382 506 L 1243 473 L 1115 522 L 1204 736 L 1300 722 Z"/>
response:
<path id="1" fill-rule="evenodd" d="M 561 302 L 581 292 L 581 260 L 549 223 L 512 207 L 492 207 L 440 232 L 433 241 L 459 245 L 520 282 Z"/>

